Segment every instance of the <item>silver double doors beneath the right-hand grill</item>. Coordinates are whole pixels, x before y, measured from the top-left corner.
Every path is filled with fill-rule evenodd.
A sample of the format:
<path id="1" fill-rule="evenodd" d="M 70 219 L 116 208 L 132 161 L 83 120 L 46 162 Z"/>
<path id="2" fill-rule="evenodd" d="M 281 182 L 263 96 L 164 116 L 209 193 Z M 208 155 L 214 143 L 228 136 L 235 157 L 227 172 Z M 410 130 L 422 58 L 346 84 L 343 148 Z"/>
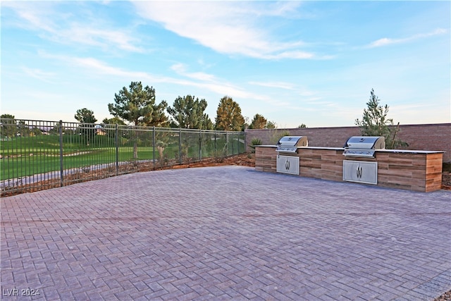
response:
<path id="1" fill-rule="evenodd" d="M 378 163 L 344 160 L 343 180 L 357 183 L 377 184 Z"/>

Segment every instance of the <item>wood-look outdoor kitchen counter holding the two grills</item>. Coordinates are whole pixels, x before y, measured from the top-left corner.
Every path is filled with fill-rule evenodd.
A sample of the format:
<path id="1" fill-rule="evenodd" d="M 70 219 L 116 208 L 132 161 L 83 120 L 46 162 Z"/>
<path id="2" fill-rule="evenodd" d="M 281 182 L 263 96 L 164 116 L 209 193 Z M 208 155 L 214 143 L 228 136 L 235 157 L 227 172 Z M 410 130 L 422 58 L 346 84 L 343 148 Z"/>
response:
<path id="1" fill-rule="evenodd" d="M 276 148 L 276 145 L 255 147 L 255 169 L 257 171 L 277 172 L 280 154 L 276 152 Z M 352 166 L 352 168 L 357 166 L 357 176 L 359 171 L 362 173 L 360 165 L 364 168 L 376 168 L 374 185 L 419 192 L 431 192 L 441 188 L 443 152 L 376 149 L 373 158 L 350 158 L 343 156 L 344 151 L 345 148 L 342 147 L 297 147 L 297 152 L 283 154 L 283 156 L 299 158 L 298 175 L 303 177 L 345 181 L 343 163 L 349 162 L 345 165 Z M 359 178 L 348 179 L 346 177 L 346 180 L 366 183 L 359 181 Z"/>

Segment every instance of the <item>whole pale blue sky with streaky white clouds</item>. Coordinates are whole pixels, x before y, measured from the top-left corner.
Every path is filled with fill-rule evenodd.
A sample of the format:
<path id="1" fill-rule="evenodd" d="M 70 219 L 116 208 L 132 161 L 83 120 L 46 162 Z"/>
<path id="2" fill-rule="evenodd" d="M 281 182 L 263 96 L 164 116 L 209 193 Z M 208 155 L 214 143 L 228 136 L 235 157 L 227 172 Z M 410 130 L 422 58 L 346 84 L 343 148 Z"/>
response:
<path id="1" fill-rule="evenodd" d="M 451 122 L 450 1 L 1 1 L 1 113 L 111 118 L 132 81 L 156 102 L 219 100 L 278 128 L 352 126 L 371 89 L 395 123 Z"/>

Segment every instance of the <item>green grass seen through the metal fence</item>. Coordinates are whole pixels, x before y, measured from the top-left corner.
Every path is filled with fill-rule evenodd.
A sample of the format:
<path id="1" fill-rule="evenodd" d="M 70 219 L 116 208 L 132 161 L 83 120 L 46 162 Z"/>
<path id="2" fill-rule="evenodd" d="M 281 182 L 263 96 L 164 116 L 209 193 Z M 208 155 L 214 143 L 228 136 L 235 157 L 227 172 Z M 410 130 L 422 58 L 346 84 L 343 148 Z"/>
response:
<path id="1" fill-rule="evenodd" d="M 139 137 L 137 141 L 138 158 L 133 158 L 133 140 L 121 137 L 118 147 L 118 161 L 136 161 L 159 159 L 159 152 L 152 143 L 152 136 Z M 193 140 L 194 141 L 194 140 Z M 35 137 L 14 137 L 8 141 L 0 142 L 2 159 L 0 180 L 32 176 L 38 173 L 47 173 L 60 170 L 60 146 L 58 135 L 38 135 Z M 189 143 L 189 142 L 184 142 Z M 197 142 L 198 143 L 198 142 Z M 216 143 L 217 156 L 225 156 L 237 152 L 230 144 L 223 151 L 225 140 Z M 244 149 L 241 143 L 240 149 Z M 199 159 L 199 147 L 183 147 L 183 159 Z M 202 145 L 202 158 L 215 156 L 214 145 L 211 141 Z M 168 143 L 163 152 L 164 159 L 179 161 L 178 141 Z M 87 145 L 80 135 L 63 135 L 63 169 L 81 168 L 97 164 L 111 164 L 116 162 L 116 144 L 113 137 L 94 136 Z"/>

